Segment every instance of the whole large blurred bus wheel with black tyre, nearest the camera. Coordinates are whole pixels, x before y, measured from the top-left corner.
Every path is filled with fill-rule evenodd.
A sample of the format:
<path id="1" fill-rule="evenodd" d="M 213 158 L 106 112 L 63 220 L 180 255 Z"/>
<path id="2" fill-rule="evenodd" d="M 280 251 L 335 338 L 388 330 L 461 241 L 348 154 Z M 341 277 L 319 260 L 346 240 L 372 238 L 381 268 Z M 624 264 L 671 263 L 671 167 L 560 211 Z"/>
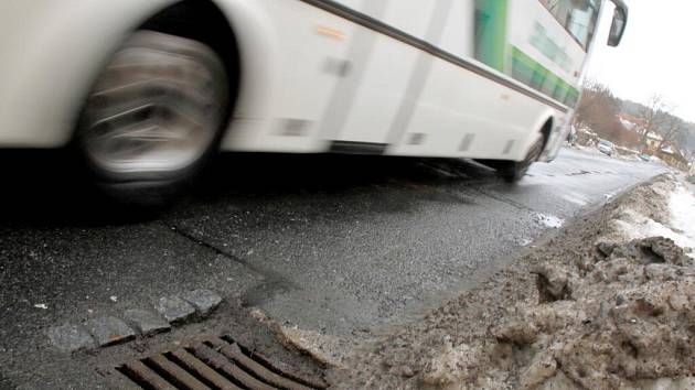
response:
<path id="1" fill-rule="evenodd" d="M 94 183 L 125 203 L 170 201 L 216 152 L 229 91 L 205 44 L 137 31 L 98 76 L 75 145 Z"/>

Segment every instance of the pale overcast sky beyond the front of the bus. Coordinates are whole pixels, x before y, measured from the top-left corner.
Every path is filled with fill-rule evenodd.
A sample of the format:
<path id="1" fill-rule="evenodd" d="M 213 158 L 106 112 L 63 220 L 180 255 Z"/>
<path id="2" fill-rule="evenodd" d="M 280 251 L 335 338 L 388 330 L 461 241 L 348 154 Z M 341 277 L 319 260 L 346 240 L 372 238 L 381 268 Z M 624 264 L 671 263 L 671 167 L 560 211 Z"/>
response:
<path id="1" fill-rule="evenodd" d="M 606 45 L 605 8 L 588 75 L 639 102 L 661 94 L 676 113 L 695 122 L 695 0 L 626 0 L 628 30 L 619 47 Z"/>

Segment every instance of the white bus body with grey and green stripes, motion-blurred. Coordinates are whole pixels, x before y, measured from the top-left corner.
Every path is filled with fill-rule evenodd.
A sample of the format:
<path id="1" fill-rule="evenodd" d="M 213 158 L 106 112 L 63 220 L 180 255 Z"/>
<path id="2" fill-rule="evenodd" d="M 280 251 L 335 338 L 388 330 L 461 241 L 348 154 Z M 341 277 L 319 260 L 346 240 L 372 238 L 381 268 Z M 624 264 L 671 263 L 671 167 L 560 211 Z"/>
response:
<path id="1" fill-rule="evenodd" d="M 228 151 L 556 155 L 601 0 L 210 0 L 238 47 Z M 127 36 L 174 0 L 0 4 L 0 147 L 71 142 Z M 627 9 L 619 0 L 622 34 Z M 617 43 L 617 42 L 616 42 Z"/>

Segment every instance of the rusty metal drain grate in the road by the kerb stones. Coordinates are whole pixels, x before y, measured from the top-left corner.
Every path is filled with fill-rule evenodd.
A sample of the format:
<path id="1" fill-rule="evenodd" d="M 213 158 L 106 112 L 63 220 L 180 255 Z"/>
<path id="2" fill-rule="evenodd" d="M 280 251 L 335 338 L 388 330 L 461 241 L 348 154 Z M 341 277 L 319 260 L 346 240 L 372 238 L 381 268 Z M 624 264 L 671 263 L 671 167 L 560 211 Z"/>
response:
<path id="1" fill-rule="evenodd" d="M 325 389 L 277 368 L 231 337 L 196 340 L 180 348 L 116 367 L 119 387 L 131 389 Z"/>

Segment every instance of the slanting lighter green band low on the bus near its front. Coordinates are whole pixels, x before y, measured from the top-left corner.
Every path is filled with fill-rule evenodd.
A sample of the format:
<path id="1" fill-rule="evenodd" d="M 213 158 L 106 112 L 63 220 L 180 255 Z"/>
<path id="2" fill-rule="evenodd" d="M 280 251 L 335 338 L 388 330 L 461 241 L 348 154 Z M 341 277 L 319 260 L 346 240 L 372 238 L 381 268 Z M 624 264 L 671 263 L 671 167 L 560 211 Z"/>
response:
<path id="1" fill-rule="evenodd" d="M 512 46 L 512 77 L 570 107 L 579 99 L 576 88 L 515 46 Z"/>

